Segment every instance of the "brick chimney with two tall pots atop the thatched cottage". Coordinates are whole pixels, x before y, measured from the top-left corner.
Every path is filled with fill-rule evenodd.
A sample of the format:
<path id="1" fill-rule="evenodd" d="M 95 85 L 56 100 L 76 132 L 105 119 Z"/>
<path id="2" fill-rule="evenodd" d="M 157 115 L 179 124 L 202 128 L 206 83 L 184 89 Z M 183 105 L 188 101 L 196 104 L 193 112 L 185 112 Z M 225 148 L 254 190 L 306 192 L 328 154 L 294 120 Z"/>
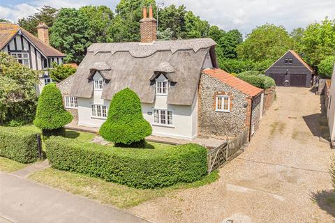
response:
<path id="1" fill-rule="evenodd" d="M 143 8 L 143 18 L 140 20 L 141 43 L 152 43 L 157 40 L 157 21 L 154 19 L 152 6 L 149 7 L 149 18 L 147 7 Z"/>

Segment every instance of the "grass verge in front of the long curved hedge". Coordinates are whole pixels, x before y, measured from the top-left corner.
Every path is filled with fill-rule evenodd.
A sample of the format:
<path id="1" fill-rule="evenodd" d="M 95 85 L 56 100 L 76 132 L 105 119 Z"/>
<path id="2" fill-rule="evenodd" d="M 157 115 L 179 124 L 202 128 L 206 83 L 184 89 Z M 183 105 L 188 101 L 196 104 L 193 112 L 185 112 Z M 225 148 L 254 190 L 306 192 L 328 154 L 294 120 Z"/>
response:
<path id="1" fill-rule="evenodd" d="M 73 194 L 79 194 L 89 199 L 111 204 L 118 208 L 131 208 L 140 203 L 163 197 L 165 194 L 177 190 L 184 190 L 193 187 L 201 187 L 213 183 L 219 178 L 218 171 L 193 183 L 179 183 L 171 187 L 154 190 L 140 190 L 117 183 L 106 182 L 99 178 L 91 178 L 82 174 L 75 174 L 68 171 L 47 168 L 29 176 L 38 183 L 43 183 L 60 190 L 66 190 Z"/>

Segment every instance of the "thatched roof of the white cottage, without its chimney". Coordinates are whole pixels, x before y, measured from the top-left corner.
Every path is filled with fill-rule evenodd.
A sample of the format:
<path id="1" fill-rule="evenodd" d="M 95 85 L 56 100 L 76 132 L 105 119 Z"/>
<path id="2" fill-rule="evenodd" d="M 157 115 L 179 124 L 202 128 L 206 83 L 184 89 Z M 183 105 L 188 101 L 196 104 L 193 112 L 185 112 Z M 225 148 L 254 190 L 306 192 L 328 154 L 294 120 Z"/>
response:
<path id="1" fill-rule="evenodd" d="M 70 94 L 91 98 L 92 71 L 98 70 L 109 80 L 103 88 L 103 99 L 111 100 L 115 93 L 129 87 L 139 95 L 141 102 L 153 103 L 156 90 L 152 77 L 163 73 L 174 82 L 169 89 L 168 104 L 192 105 L 204 59 L 214 45 L 210 38 L 91 45 L 75 73 L 73 82 L 76 84 Z"/>

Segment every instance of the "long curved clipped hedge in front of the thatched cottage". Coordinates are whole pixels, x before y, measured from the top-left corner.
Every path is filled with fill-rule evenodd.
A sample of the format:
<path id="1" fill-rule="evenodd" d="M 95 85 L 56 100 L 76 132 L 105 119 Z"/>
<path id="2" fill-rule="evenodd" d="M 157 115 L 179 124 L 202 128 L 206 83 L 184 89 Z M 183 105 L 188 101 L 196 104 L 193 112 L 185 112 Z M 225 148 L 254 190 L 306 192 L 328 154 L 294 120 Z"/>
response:
<path id="1" fill-rule="evenodd" d="M 130 187 L 165 187 L 199 180 L 207 174 L 207 150 L 197 144 L 165 149 L 117 148 L 64 137 L 51 137 L 45 144 L 52 167 Z"/>

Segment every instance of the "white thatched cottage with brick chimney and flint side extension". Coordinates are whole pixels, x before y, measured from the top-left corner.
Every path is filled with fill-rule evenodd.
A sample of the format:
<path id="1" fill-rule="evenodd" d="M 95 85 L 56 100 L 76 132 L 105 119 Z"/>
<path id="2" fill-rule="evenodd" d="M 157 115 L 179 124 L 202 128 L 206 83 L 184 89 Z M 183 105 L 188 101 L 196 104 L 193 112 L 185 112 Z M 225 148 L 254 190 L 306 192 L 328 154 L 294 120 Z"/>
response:
<path id="1" fill-rule="evenodd" d="M 144 118 L 151 123 L 156 136 L 234 137 L 258 123 L 251 121 L 248 108 L 260 106 L 262 89 L 228 73 L 225 75 L 233 81 L 225 84 L 224 79 L 211 84 L 204 77 L 209 70 L 218 68 L 214 40 L 156 40 L 156 20 L 151 8 L 149 17 L 144 8 L 140 30 L 140 43 L 91 45 L 75 75 L 58 85 L 66 108 L 76 117 L 76 125 L 100 127 L 107 118 L 114 93 L 126 87 L 139 96 Z M 234 81 L 238 84 L 234 85 Z M 252 89 L 252 93 L 243 88 Z M 207 103 L 213 105 L 211 112 L 204 110 Z M 253 120 L 259 120 L 260 112 L 253 112 L 253 116 Z M 225 121 L 213 123 L 218 119 Z M 216 130 L 208 130 L 211 124 Z M 225 128 L 229 130 L 223 131 Z"/>

